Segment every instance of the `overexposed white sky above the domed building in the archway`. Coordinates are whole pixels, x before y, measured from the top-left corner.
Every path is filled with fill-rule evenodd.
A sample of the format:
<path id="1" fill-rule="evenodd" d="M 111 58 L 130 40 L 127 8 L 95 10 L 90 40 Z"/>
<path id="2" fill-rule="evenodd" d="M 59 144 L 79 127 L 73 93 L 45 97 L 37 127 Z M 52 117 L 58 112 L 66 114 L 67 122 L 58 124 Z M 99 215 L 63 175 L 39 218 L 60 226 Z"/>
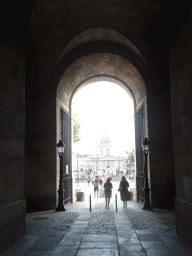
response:
<path id="1" fill-rule="evenodd" d="M 81 140 L 73 144 L 74 152 L 95 154 L 106 133 L 113 155 L 134 146 L 133 100 L 119 85 L 107 81 L 86 85 L 74 96 L 72 110 L 81 124 Z"/>

